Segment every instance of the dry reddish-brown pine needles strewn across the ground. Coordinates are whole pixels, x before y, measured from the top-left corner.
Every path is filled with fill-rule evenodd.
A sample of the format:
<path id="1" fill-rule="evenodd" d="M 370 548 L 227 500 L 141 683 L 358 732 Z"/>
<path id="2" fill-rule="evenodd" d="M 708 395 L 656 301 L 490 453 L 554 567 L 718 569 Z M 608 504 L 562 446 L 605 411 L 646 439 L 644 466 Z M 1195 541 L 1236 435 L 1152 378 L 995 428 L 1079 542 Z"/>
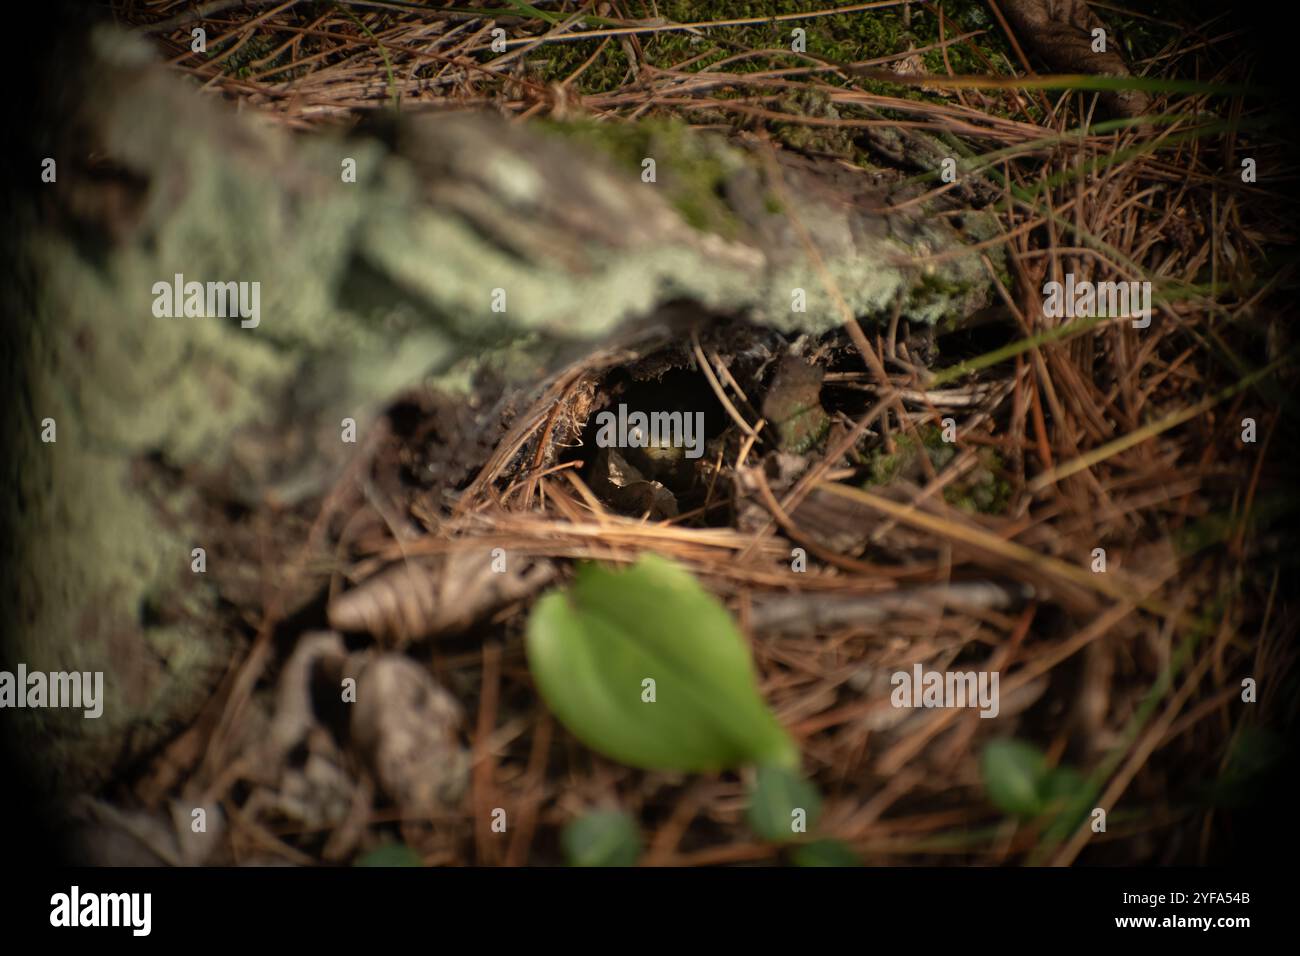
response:
<path id="1" fill-rule="evenodd" d="M 776 118 L 820 127 L 904 120 L 963 135 L 982 152 L 1002 151 L 993 164 L 1000 176 L 991 182 L 1001 193 L 1002 235 L 996 242 L 1006 248 L 1011 281 L 998 281 L 998 294 L 1004 320 L 1019 329 L 1017 338 L 1053 332 L 1053 320 L 1041 313 L 1040 290 L 1044 281 L 1067 272 L 1096 281 L 1153 277 L 1157 295 L 1161 287 L 1175 289 L 1148 329 L 1102 323 L 942 386 L 907 360 L 893 329 L 862 329 L 848 316 L 846 329 L 863 360 L 855 380 L 874 402 L 845 423 L 844 440 L 832 442 L 807 480 L 780 496 L 759 489 L 770 520 L 754 533 L 693 527 L 692 515 L 651 524 L 611 514 L 572 463 L 554 464 L 537 438 L 546 433 L 554 442 L 558 432 L 547 423 L 589 386 L 590 369 L 577 367 L 524 416 L 521 437 L 500 449 L 452 514 L 417 502 L 426 536 L 399 546 L 380 533 L 367 548 L 384 558 L 503 546 L 519 554 L 611 562 L 651 549 L 681 561 L 727 601 L 750 636 L 763 696 L 798 739 L 805 766 L 826 795 L 820 831 L 845 840 L 868 862 L 996 864 L 1030 857 L 1034 830 L 1006 823 L 983 797 L 978 754 L 989 731 L 982 723 L 996 723 L 1000 735 L 1034 740 L 1052 761 L 1108 767 L 1100 804 L 1134 812 L 1106 834 L 1078 832 L 1046 861 L 1069 864 L 1080 853 L 1096 861 L 1158 861 L 1165 858 L 1161 848 L 1180 860 L 1208 857 L 1217 814 L 1190 808 L 1178 787 L 1213 778 L 1226 760 L 1226 744 L 1247 721 L 1280 722 L 1275 697 L 1243 717 L 1239 680 L 1245 674 L 1280 675 L 1295 663 L 1288 640 L 1294 610 L 1279 600 L 1269 542 L 1258 541 L 1245 520 L 1257 501 L 1275 490 L 1275 457 L 1294 436 L 1260 388 L 1223 392 L 1244 375 L 1231 356 L 1260 354 L 1248 339 L 1251 323 L 1284 326 L 1291 319 L 1282 294 L 1288 276 L 1251 280 L 1264 274 L 1268 250 L 1292 242 L 1294 217 L 1270 187 L 1247 187 L 1221 174 L 1240 153 L 1235 134 L 1190 135 L 1195 121 L 1182 118 L 1079 137 L 1071 131 L 1095 108 L 1087 96 L 1061 94 L 1052 100 L 1043 92 L 957 90 L 948 98 L 904 99 L 862 88 L 837 68 L 792 65 L 771 51 L 742 52 L 701 73 L 688 69 L 689 62 L 658 69 L 642 60 L 623 88 L 582 99 L 572 91 L 572 75 L 545 86 L 519 70 L 520 56 L 488 56 L 488 21 L 360 7 L 348 16 L 334 5 L 313 5 L 312 16 L 303 16 L 292 7 L 213 13 L 209 46 L 222 51 L 218 57 L 190 55 L 183 25 L 155 38 L 178 69 L 209 90 L 295 127 L 352 117 L 394 94 L 404 104 L 482 104 L 521 117 L 585 112 L 618 120 L 673 112 L 750 130 Z M 616 17 L 614 7 L 610 16 Z M 117 9 L 127 21 L 157 22 L 182 5 Z M 529 27 L 540 38 L 555 30 L 520 21 L 512 35 Z M 255 36 L 274 42 L 263 44 L 243 75 L 224 72 L 224 60 Z M 233 46 L 220 47 L 228 39 Z M 619 34 L 602 43 L 624 43 L 634 59 L 641 49 Z M 970 38 L 944 40 L 953 43 Z M 770 69 L 728 70 L 763 57 Z M 1231 82 L 1248 66 L 1228 59 L 1227 66 L 1205 75 L 1196 57 L 1209 62 L 1204 48 L 1197 52 L 1187 43 L 1167 49 L 1150 68 Z M 417 77 L 429 64 L 434 69 Z M 289 68 L 294 78 L 285 81 Z M 779 94 L 794 88 L 819 91 L 841 118 L 784 112 Z M 1247 105 L 1200 95 L 1157 103 L 1167 117 L 1212 108 L 1236 116 Z M 1157 144 L 1164 148 L 1157 151 Z M 1252 143 L 1261 168 L 1270 160 L 1284 166 L 1277 150 L 1266 139 Z M 1117 153 L 1126 159 L 1110 161 Z M 1096 168 L 1087 172 L 1089 164 Z M 1032 199 L 1026 198 L 1030 193 Z M 1206 271 L 1221 284 L 1217 294 L 1176 291 L 1178 284 L 1195 284 Z M 1270 338 L 1265 360 L 1286 355 L 1284 338 L 1274 345 Z M 753 397 L 737 394 L 725 381 L 725 363 L 718 358 L 706 362 L 716 373 L 720 398 L 733 408 L 755 407 Z M 794 515 L 822 483 L 844 475 L 844 454 L 854 446 L 889 447 L 893 436 L 914 433 L 918 424 L 941 415 L 957 419 L 961 436 L 961 454 L 948 468 L 931 470 L 902 497 L 855 497 L 863 522 L 878 524 L 870 558 L 818 549 Z M 1253 446 L 1240 441 L 1244 416 L 1258 423 Z M 762 424 L 746 421 L 759 434 Z M 1011 486 L 1010 506 L 998 516 L 968 515 L 942 496 L 982 446 L 1000 453 Z M 515 454 L 520 449 L 530 454 Z M 760 442 L 749 441 L 734 460 L 720 464 L 731 473 L 755 463 L 760 451 Z M 316 544 L 328 537 L 337 515 L 365 506 L 359 485 L 354 472 L 324 502 Z M 1223 520 L 1222 541 L 1180 554 L 1176 536 L 1205 516 Z M 814 559 L 796 579 L 788 570 L 789 549 L 805 541 Z M 1106 575 L 1087 571 L 1098 546 L 1108 550 Z M 303 554 L 313 550 L 309 542 Z M 793 591 L 818 601 L 941 585 L 954 578 L 1018 581 L 1032 585 L 1035 597 L 1008 613 L 949 607 L 816 633 L 770 636 L 751 627 L 755 604 L 772 593 Z M 250 657 L 224 688 L 228 717 L 231 701 L 247 697 L 273 654 L 274 602 L 264 610 Z M 497 639 L 481 648 L 430 652 L 439 680 L 468 688 L 462 701 L 471 713 L 476 763 L 471 795 L 456 812 L 443 819 L 398 821 L 428 862 L 555 860 L 559 829 L 601 804 L 637 816 L 647 831 L 649 862 L 777 858 L 770 845 L 748 835 L 741 775 L 629 770 L 592 754 L 556 727 L 529 680 L 520 641 L 525 609 L 515 610 L 497 622 Z M 1193 632 L 1199 641 L 1149 718 L 1134 721 Z M 874 674 L 915 659 L 942 665 L 959 653 L 1001 670 L 1004 696 L 1014 704 L 1019 693 L 1027 709 L 996 722 L 982 722 L 974 711 L 920 711 L 890 726 L 883 717 L 887 695 L 863 689 Z M 204 730 L 213 743 L 207 763 L 212 773 L 222 763 L 220 727 L 218 721 L 214 730 Z M 514 808 L 504 842 L 486 830 L 494 806 Z M 372 823 L 385 819 L 376 812 Z M 239 826 L 237 821 L 237 834 Z M 281 845 L 285 855 L 302 857 Z"/>

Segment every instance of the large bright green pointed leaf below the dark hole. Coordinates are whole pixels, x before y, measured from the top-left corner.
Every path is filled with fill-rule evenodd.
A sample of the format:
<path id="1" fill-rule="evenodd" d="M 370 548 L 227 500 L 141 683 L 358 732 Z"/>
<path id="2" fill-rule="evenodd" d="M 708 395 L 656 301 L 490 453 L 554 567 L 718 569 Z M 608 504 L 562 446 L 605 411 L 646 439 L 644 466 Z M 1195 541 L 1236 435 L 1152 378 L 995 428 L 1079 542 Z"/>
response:
<path id="1" fill-rule="evenodd" d="M 607 757 L 682 771 L 798 762 L 727 609 L 666 558 L 580 567 L 533 607 L 526 648 L 551 711 Z"/>

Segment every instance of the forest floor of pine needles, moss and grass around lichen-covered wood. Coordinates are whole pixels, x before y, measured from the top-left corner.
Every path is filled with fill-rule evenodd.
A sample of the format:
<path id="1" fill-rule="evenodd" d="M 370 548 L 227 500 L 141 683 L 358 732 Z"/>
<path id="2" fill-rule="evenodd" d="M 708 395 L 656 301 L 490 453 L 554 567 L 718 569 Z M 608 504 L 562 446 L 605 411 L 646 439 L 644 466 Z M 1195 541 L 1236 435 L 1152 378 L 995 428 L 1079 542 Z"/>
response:
<path id="1" fill-rule="evenodd" d="M 438 108 L 673 120 L 864 181 L 889 169 L 905 202 L 956 193 L 997 219 L 988 247 L 1006 268 L 962 328 L 850 321 L 798 338 L 720 317 L 623 364 L 571 367 L 516 427 L 484 432 L 478 468 L 445 442 L 448 416 L 469 412 L 403 397 L 360 472 L 252 532 L 324 536 L 338 562 L 318 614 L 412 558 L 445 578 L 499 548 L 550 583 L 656 551 L 733 615 L 822 793 L 816 834 L 852 857 L 1171 864 L 1240 848 L 1297 700 L 1283 523 L 1300 220 L 1290 133 L 1227 13 L 1096 4 L 1134 75 L 1089 87 L 1053 79 L 974 0 L 230 5 L 204 21 L 202 53 L 183 4 L 110 7 L 211 95 L 296 130 Z M 1117 91 L 1138 91 L 1144 116 L 1108 109 Z M 950 144 L 957 179 L 900 130 Z M 1128 315 L 1074 315 L 1074 290 L 1102 282 L 1144 289 L 1149 323 L 1140 297 Z M 595 412 L 619 403 L 703 412 L 705 453 L 597 454 Z M 458 581 L 467 605 L 489 587 Z M 541 585 L 482 597 L 472 626 L 436 640 L 421 615 L 437 609 L 384 587 L 369 593 L 391 606 L 358 611 L 347 650 L 370 631 L 450 692 L 459 799 L 403 813 L 328 740 L 286 757 L 298 797 L 257 784 L 265 767 L 222 744 L 230 688 L 269 697 L 292 669 L 302 622 L 268 601 L 239 609 L 250 640 L 231 680 L 122 803 L 161 805 L 203 766 L 228 821 L 213 858 L 234 862 L 554 864 L 593 808 L 634 822 L 645 864 L 793 858 L 748 822 L 749 771 L 633 769 L 556 722 L 525 648 Z M 1000 672 L 997 719 L 890 708 L 892 675 L 915 663 Z M 1018 745 L 991 756 L 993 740 Z M 1019 783 L 1027 804 L 1006 796 Z M 1036 803 L 1057 786 L 1069 800 Z M 308 813 L 313 800 L 335 809 Z"/>

